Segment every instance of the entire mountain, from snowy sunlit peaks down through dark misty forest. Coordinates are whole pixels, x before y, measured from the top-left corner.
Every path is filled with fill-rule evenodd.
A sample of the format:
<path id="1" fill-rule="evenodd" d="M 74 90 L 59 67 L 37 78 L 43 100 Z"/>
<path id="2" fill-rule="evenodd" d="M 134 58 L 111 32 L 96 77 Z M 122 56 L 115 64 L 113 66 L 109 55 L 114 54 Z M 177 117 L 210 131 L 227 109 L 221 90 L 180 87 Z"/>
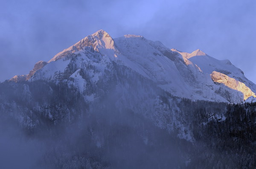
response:
<path id="1" fill-rule="evenodd" d="M 255 88 L 228 60 L 100 30 L 0 83 L 0 168 L 255 168 Z"/>

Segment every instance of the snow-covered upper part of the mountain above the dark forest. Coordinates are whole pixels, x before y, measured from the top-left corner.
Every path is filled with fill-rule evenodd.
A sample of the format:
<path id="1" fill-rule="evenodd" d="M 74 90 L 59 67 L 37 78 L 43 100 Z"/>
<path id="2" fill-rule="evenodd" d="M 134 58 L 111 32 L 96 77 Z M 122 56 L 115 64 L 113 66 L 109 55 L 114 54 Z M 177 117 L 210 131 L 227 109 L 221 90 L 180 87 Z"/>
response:
<path id="1" fill-rule="evenodd" d="M 89 93 L 85 98 L 92 101 L 96 96 L 87 91 L 89 85 L 97 85 L 106 71 L 113 71 L 113 64 L 139 73 L 174 96 L 233 103 L 256 97 L 256 85 L 229 60 L 214 59 L 200 50 L 180 52 L 137 35 L 113 39 L 103 30 L 81 39 L 47 63 L 38 62 L 29 75 L 11 80 L 67 82 L 81 93 Z"/>

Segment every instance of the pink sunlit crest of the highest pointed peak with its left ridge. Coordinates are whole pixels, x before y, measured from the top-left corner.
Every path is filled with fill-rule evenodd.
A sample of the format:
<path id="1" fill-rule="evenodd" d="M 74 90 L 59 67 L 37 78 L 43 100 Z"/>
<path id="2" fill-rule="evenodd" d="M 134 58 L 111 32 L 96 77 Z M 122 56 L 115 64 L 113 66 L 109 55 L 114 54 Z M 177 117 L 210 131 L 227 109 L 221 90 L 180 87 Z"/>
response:
<path id="1" fill-rule="evenodd" d="M 115 47 L 114 40 L 112 39 L 112 37 L 104 30 L 99 30 L 94 34 L 91 34 L 81 39 L 75 45 L 72 45 L 69 48 L 59 52 L 52 59 L 50 59 L 49 62 L 64 58 L 69 54 L 75 53 L 77 51 L 82 50 L 84 47 L 89 46 L 92 47 L 95 51 L 100 52 L 102 54 L 110 54 L 110 52 L 113 54 L 119 53 L 119 51 Z"/>

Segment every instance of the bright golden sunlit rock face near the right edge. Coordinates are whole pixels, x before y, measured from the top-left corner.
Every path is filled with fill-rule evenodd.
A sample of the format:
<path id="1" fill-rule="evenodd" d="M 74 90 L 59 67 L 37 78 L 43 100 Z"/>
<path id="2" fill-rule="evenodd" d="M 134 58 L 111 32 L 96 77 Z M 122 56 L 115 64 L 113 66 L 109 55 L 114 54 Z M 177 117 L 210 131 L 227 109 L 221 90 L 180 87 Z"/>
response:
<path id="1" fill-rule="evenodd" d="M 239 82 L 223 73 L 213 71 L 211 74 L 213 82 L 221 83 L 227 87 L 241 92 L 244 96 L 244 100 L 248 99 L 250 96 L 256 97 L 255 93 L 250 90 L 244 83 Z"/>

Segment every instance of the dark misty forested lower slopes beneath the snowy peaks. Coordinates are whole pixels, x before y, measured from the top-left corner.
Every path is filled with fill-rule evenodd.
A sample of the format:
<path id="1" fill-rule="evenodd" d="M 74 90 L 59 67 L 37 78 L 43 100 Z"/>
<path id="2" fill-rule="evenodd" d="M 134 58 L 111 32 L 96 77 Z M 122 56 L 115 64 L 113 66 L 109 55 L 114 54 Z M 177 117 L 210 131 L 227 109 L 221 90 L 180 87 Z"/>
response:
<path id="1" fill-rule="evenodd" d="M 1 167 L 234 169 L 256 165 L 255 103 L 181 99 L 136 73 L 122 69 L 116 73 L 122 78 L 113 73 L 111 82 L 92 88 L 101 96 L 93 104 L 67 84 L 1 83 Z M 151 99 L 157 102 L 151 104 Z"/>

